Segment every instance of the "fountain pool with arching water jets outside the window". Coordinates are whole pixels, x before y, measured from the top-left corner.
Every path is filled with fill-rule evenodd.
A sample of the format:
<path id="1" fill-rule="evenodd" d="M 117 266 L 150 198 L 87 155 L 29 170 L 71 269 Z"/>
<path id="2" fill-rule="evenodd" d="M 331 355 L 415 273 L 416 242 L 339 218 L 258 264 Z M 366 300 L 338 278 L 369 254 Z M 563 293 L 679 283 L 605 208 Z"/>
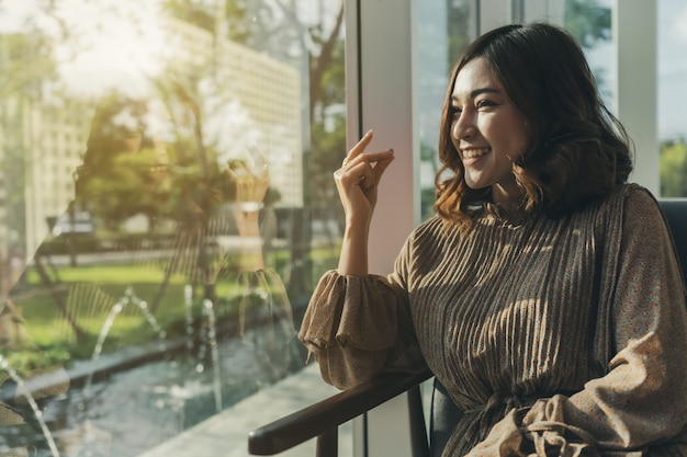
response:
<path id="1" fill-rule="evenodd" d="M 32 431 L 27 445 L 42 446 L 41 453 L 49 447 L 50 457 L 135 457 L 272 384 L 277 367 L 268 370 L 264 362 L 270 363 L 261 361 L 268 349 L 263 340 L 272 330 L 259 322 L 273 305 L 270 294 L 256 285 L 248 295 L 224 297 L 229 304 L 236 300 L 240 319 L 221 321 L 221 306 L 232 305 L 194 298 L 192 286 L 184 286 L 181 334 L 169 339 L 146 301 L 127 287 L 104 309 L 90 357 L 68 367 L 69 389 L 32 404 L 50 441 L 43 444 L 38 432 Z M 134 344 L 108 351 L 115 321 L 126 309 L 139 311 L 157 335 L 159 349 Z M 199 315 L 201 319 L 194 317 Z"/>

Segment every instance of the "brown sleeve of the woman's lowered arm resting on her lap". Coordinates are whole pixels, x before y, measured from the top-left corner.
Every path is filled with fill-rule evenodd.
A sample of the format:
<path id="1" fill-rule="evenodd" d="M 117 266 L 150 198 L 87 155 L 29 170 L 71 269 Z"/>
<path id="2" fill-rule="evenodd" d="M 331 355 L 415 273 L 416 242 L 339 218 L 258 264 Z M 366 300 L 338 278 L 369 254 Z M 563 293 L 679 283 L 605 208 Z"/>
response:
<path id="1" fill-rule="evenodd" d="M 608 373 L 571 397 L 511 411 L 470 456 L 493 455 L 506 442 L 517 449 L 508 455 L 520 455 L 521 445 L 547 456 L 687 453 L 685 286 L 664 218 L 644 191 L 627 197 L 616 259 L 615 271 L 606 265 L 613 282 Z"/>

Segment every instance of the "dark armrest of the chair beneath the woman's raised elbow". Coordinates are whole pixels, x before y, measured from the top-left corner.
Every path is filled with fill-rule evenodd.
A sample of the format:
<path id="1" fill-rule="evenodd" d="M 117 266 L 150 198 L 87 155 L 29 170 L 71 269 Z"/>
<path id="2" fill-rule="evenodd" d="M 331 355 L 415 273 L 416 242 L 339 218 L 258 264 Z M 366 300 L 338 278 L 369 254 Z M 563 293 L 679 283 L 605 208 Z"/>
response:
<path id="1" fill-rule="evenodd" d="M 413 375 L 380 375 L 254 430 L 248 435 L 248 452 L 266 456 L 290 449 L 379 407 L 432 376 L 429 369 Z"/>

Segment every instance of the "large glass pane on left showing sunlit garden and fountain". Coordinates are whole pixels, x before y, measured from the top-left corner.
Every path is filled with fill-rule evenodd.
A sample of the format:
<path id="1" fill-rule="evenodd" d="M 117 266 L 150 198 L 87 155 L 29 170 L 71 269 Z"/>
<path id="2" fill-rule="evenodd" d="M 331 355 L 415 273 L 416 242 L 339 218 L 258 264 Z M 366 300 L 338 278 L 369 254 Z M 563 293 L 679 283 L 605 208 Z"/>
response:
<path id="1" fill-rule="evenodd" d="M 336 265 L 342 3 L 2 2 L 0 62 L 0 455 L 291 412 L 235 407 L 301 374 Z"/>

